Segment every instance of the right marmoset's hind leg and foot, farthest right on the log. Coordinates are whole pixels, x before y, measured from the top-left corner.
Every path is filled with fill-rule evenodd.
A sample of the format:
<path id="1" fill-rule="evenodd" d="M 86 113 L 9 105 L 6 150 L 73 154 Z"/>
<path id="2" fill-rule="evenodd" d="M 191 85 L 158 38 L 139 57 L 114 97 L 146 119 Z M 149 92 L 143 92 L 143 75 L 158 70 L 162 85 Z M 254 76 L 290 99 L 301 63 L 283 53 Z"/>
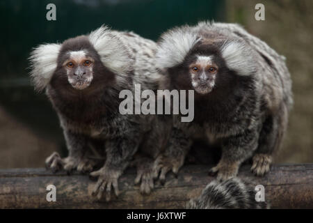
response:
<path id="1" fill-rule="evenodd" d="M 278 151 L 287 128 L 287 108 L 283 107 L 276 116 L 268 116 L 259 135 L 259 146 L 252 157 L 251 171 L 257 176 L 264 176 L 273 161 L 273 152 Z"/>

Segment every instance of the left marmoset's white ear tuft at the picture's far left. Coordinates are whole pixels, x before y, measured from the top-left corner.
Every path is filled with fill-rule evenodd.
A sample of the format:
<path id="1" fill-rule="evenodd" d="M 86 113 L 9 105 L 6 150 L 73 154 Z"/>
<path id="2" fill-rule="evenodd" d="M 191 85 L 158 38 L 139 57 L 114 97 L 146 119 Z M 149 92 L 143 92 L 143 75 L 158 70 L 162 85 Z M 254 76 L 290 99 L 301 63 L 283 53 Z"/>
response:
<path id="1" fill-rule="evenodd" d="M 31 79 L 37 91 L 45 89 L 56 70 L 56 61 L 60 44 L 44 44 L 35 47 L 31 52 Z"/>

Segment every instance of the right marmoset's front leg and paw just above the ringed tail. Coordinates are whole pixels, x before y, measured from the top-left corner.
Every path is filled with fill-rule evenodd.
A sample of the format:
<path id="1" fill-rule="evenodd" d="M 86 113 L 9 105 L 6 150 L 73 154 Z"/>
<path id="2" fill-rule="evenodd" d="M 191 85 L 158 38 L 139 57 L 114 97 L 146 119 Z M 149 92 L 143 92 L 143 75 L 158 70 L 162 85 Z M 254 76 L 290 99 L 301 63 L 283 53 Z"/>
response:
<path id="1" fill-rule="evenodd" d="M 227 137 L 222 142 L 222 157 L 209 170 L 210 175 L 216 175 L 218 180 L 227 180 L 238 174 L 242 162 L 248 160 L 257 148 L 257 131 L 246 130 L 243 134 Z"/>

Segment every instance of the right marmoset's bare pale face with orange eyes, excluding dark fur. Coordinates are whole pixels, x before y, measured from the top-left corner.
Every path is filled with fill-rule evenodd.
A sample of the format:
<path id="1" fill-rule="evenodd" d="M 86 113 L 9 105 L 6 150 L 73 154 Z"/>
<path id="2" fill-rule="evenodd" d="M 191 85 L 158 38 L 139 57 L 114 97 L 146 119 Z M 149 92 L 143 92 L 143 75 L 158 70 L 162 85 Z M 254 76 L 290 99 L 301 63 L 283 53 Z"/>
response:
<path id="1" fill-rule="evenodd" d="M 188 66 L 191 85 L 197 93 L 210 93 L 216 83 L 218 66 L 212 56 L 195 56 L 195 61 Z"/>

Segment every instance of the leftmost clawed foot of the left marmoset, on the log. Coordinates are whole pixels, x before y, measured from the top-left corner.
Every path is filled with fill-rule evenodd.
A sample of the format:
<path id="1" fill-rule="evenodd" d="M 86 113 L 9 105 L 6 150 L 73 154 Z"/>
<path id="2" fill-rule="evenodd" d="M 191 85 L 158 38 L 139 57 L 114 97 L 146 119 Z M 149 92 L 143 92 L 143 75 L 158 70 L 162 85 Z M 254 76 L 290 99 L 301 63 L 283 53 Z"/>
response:
<path id="1" fill-rule="evenodd" d="M 54 173 L 61 169 L 64 169 L 67 173 L 70 173 L 74 169 L 77 169 L 79 172 L 86 173 L 92 171 L 95 165 L 93 160 L 88 160 L 86 158 L 78 159 L 74 157 L 66 157 L 62 159 L 56 152 L 47 157 L 45 164 L 46 168 L 51 169 Z"/>

